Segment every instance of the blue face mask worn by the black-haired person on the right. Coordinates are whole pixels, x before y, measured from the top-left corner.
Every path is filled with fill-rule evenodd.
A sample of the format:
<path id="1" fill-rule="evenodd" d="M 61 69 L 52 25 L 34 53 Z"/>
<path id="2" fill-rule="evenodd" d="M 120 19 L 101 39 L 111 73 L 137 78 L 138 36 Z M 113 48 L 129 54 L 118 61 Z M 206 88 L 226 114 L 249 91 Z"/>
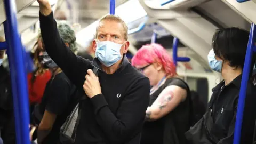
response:
<path id="1" fill-rule="evenodd" d="M 221 72 L 222 61 L 219 61 L 215 58 L 215 53 L 213 49 L 208 54 L 208 62 L 212 70 L 217 71 L 219 73 Z"/>

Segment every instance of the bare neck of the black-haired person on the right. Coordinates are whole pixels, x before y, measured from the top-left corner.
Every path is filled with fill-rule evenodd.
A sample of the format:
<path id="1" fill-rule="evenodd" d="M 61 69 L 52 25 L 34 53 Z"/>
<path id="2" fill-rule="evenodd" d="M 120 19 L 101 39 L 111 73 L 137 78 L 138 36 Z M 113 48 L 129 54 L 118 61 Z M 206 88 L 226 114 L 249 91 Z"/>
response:
<path id="1" fill-rule="evenodd" d="M 230 82 L 232 82 L 237 76 L 242 74 L 241 68 L 232 68 L 227 66 L 227 68 L 223 68 L 221 75 L 223 79 L 225 80 L 225 85 L 228 85 Z"/>

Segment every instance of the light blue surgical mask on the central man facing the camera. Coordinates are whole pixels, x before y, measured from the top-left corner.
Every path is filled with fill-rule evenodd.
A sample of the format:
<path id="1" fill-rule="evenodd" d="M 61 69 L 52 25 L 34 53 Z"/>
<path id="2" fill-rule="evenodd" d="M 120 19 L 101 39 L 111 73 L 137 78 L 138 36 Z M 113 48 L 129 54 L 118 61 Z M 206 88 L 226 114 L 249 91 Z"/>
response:
<path id="1" fill-rule="evenodd" d="M 95 57 L 106 67 L 114 65 L 122 59 L 120 49 L 123 44 L 117 44 L 111 41 L 99 41 L 96 44 Z"/>

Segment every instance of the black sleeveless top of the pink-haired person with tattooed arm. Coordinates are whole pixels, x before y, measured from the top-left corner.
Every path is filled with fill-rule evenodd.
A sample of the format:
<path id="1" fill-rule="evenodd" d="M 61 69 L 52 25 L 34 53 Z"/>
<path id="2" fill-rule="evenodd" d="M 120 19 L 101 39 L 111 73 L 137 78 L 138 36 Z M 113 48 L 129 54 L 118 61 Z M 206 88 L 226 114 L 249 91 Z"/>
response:
<path id="1" fill-rule="evenodd" d="M 191 117 L 191 98 L 189 87 L 179 78 L 170 78 L 150 95 L 151 106 L 158 95 L 170 85 L 176 85 L 187 91 L 185 101 L 181 102 L 173 111 L 166 116 L 153 122 L 145 122 L 142 131 L 141 144 L 180 143 L 187 144 L 184 133 L 189 130 Z"/>

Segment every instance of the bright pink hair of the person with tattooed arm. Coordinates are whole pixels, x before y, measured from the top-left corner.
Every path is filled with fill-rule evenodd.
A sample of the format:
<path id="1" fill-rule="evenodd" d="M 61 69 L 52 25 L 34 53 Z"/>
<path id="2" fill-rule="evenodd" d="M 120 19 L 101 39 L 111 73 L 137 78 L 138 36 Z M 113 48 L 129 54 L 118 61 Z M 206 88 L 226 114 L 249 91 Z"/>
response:
<path id="1" fill-rule="evenodd" d="M 161 63 L 167 75 L 177 75 L 173 60 L 162 45 L 155 43 L 143 45 L 132 58 L 132 66 L 154 62 Z"/>

